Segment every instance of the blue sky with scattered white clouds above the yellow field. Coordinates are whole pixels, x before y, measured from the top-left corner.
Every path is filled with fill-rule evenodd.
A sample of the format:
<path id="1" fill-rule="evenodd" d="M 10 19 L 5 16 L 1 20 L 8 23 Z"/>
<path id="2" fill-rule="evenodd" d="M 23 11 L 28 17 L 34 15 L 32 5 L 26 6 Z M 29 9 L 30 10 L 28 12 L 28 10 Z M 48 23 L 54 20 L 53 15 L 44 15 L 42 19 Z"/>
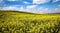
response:
<path id="1" fill-rule="evenodd" d="M 0 0 L 0 10 L 60 13 L 60 0 Z"/>

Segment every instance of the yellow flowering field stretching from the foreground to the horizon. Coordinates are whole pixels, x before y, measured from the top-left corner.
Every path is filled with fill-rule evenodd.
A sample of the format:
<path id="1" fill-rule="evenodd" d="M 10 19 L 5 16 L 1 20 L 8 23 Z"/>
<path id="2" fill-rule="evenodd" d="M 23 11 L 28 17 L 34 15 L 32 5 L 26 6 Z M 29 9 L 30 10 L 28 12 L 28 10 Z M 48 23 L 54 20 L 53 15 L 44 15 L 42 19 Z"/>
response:
<path id="1" fill-rule="evenodd" d="M 0 33 L 60 33 L 60 14 L 0 11 Z"/>

